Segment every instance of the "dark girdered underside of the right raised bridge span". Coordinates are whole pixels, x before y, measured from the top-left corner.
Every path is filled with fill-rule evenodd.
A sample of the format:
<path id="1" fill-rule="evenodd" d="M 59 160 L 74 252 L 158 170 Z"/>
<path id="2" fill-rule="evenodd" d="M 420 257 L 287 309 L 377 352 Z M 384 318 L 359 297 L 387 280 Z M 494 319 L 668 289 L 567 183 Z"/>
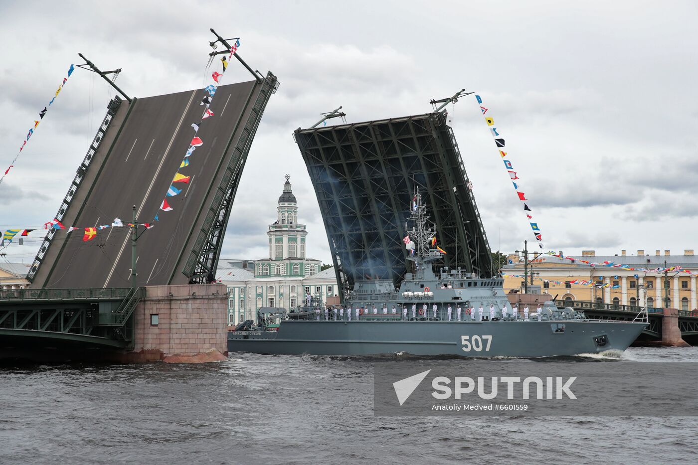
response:
<path id="1" fill-rule="evenodd" d="M 419 189 L 443 265 L 492 275 L 487 237 L 452 129 L 440 112 L 295 131 L 315 188 L 337 279 L 408 270 L 405 220 Z"/>

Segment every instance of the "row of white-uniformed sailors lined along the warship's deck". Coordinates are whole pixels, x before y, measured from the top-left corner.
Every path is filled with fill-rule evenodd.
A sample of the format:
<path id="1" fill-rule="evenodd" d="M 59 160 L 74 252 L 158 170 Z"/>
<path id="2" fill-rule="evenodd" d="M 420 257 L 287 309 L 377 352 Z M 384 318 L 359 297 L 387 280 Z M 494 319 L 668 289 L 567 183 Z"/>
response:
<path id="1" fill-rule="evenodd" d="M 330 315 L 330 312 L 332 312 L 332 315 Z M 346 312 L 346 319 L 351 321 L 352 318 L 355 318 L 355 320 L 359 320 L 360 316 L 363 315 L 378 315 L 378 309 L 376 309 L 376 306 L 373 305 L 373 309 L 369 311 L 369 309 L 365 309 L 364 307 L 355 307 L 352 309 L 349 307 L 348 309 L 340 308 L 340 309 L 332 309 L 330 310 L 329 308 L 325 309 L 325 320 L 329 320 L 330 318 L 334 318 L 336 321 L 338 318 L 339 320 L 344 320 L 344 315 Z M 439 318 L 439 311 L 438 311 L 438 306 L 436 304 L 433 304 L 431 308 L 431 316 L 433 318 Z M 397 315 L 398 311 L 393 305 L 392 310 L 390 311 L 392 315 Z M 463 315 L 463 313 L 465 313 Z M 537 320 L 540 321 L 540 316 L 542 313 L 542 308 L 540 307 L 540 304 L 538 304 L 538 307 L 534 313 L 535 316 L 537 316 Z M 383 305 L 383 315 L 388 314 L 388 309 L 386 305 Z M 480 304 L 480 307 L 475 311 L 475 307 L 466 307 L 465 311 L 463 312 L 463 309 L 461 308 L 461 304 L 456 305 L 456 311 L 455 315 L 453 312 L 453 308 L 451 304 L 448 304 L 448 308 L 446 310 L 447 314 L 447 321 L 463 321 L 463 320 L 468 320 L 468 321 L 482 321 L 482 320 L 487 320 L 488 315 L 484 313 L 484 310 L 482 309 L 482 304 Z M 417 311 L 417 304 L 412 304 L 412 318 L 417 318 L 417 317 L 428 317 L 429 316 L 429 310 L 427 309 L 426 304 L 422 305 L 422 309 L 419 309 Z M 465 316 L 465 318 L 463 318 Z M 528 321 L 528 316 L 529 316 L 529 310 L 528 310 L 528 305 L 525 305 L 523 307 L 523 320 Z M 490 304 L 489 306 L 489 320 L 492 320 L 493 318 L 500 317 L 503 319 L 509 318 L 509 311 L 507 309 L 506 305 L 502 306 L 501 313 L 498 314 L 498 311 L 494 308 L 494 305 Z M 402 307 L 402 318 L 403 319 L 408 319 L 408 307 Z M 320 320 L 320 309 L 315 309 L 315 319 Z M 512 307 L 512 319 L 513 320 L 519 320 L 519 307 L 517 307 L 516 304 L 514 304 L 514 307 Z"/>

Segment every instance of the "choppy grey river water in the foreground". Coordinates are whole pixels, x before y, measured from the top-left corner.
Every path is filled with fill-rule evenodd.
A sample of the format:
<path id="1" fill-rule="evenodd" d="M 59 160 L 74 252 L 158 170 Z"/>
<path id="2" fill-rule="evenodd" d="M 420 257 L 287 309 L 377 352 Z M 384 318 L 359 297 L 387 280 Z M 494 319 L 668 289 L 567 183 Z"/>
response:
<path id="1" fill-rule="evenodd" d="M 577 360 L 695 362 L 698 348 Z M 376 418 L 374 361 L 0 367 L 0 463 L 698 462 L 696 418 Z"/>

